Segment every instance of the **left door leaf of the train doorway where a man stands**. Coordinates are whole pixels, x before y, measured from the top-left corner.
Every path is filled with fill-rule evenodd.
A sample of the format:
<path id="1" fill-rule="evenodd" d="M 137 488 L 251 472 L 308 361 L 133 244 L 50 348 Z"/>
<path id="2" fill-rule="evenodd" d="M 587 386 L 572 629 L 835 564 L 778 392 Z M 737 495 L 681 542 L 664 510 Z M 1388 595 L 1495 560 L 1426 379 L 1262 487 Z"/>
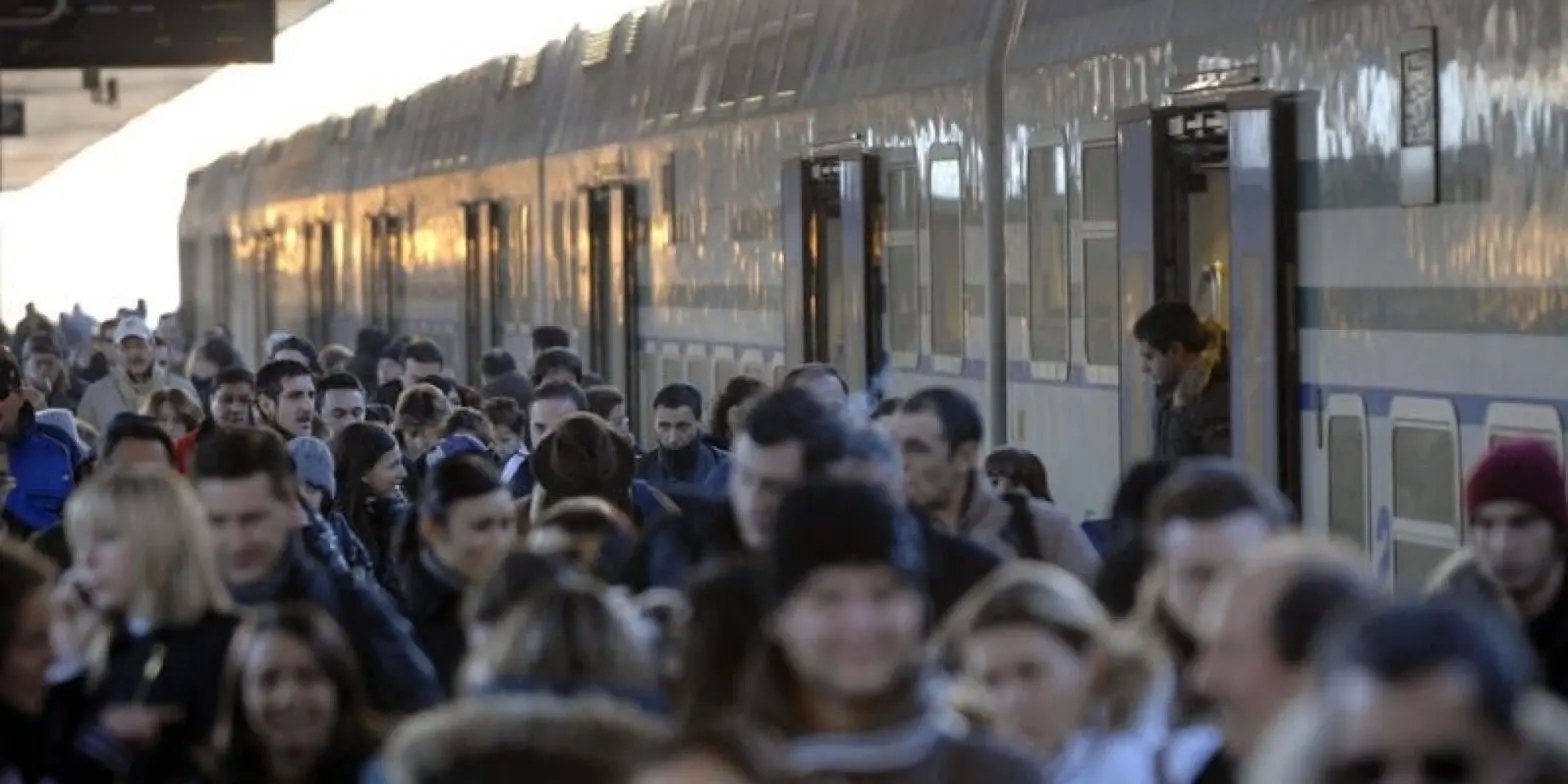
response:
<path id="1" fill-rule="evenodd" d="M 1131 466 L 1154 455 L 1154 384 L 1143 376 L 1143 356 L 1132 325 L 1162 295 L 1162 278 L 1173 265 L 1171 166 L 1163 118 L 1149 105 L 1116 118 L 1116 256 L 1121 303 L 1116 336 L 1120 353 L 1118 422 L 1121 463 Z M 1168 296 L 1168 295 L 1167 295 Z"/>

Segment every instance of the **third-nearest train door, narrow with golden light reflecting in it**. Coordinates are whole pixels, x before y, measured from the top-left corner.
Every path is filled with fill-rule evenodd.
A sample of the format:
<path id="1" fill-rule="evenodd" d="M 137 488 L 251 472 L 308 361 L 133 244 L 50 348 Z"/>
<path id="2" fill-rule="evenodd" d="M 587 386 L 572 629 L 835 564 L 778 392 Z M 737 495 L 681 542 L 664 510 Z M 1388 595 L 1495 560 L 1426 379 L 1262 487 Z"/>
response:
<path id="1" fill-rule="evenodd" d="M 637 356 L 637 187 L 599 185 L 582 193 L 588 221 L 588 367 L 643 400 Z M 627 406 L 633 409 L 635 406 Z"/>

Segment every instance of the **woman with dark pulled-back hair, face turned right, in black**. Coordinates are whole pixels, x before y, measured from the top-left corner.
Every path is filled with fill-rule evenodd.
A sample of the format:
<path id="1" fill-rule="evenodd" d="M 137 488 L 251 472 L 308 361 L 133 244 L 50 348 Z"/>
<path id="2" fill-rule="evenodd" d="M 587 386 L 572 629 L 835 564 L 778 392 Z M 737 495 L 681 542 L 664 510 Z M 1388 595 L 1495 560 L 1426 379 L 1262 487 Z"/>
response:
<path id="1" fill-rule="evenodd" d="M 397 561 L 408 619 L 447 687 L 467 652 L 463 594 L 491 575 L 516 535 L 511 494 L 494 463 L 458 455 L 431 469 L 419 528 L 398 539 Z"/>

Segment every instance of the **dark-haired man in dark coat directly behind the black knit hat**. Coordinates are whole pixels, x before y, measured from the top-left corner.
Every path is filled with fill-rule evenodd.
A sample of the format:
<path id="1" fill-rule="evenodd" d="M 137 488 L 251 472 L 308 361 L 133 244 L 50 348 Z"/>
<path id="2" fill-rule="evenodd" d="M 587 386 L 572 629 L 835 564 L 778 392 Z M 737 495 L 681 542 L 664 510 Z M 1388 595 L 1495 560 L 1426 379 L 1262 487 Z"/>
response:
<path id="1" fill-rule="evenodd" d="M 724 495 L 676 494 L 681 514 L 643 532 L 626 582 L 684 588 L 702 563 L 765 552 L 779 500 L 844 458 L 847 439 L 844 420 L 804 389 L 764 397 L 735 434 Z"/>

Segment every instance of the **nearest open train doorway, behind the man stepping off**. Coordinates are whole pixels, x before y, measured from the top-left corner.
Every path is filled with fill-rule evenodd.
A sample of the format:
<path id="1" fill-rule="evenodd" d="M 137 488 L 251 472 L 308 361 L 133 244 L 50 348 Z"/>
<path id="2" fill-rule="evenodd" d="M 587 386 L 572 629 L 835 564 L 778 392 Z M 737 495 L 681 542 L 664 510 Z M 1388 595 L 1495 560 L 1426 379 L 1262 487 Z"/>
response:
<path id="1" fill-rule="evenodd" d="M 1121 447 L 1154 452 L 1154 389 L 1129 337 L 1163 299 L 1228 331 L 1231 450 L 1300 500 L 1290 99 L 1138 107 L 1118 118 Z"/>

